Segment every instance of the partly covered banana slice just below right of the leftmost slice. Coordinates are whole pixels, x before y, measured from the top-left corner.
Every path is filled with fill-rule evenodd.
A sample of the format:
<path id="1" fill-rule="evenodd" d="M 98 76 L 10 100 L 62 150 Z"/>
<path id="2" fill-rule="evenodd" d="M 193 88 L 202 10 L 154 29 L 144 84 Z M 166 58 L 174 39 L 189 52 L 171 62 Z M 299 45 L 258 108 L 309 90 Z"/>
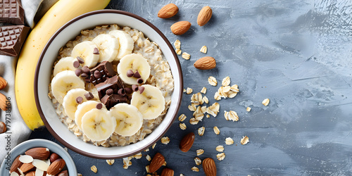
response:
<path id="1" fill-rule="evenodd" d="M 82 97 L 81 103 L 83 103 L 84 101 L 87 101 L 84 96 L 84 94 L 87 93 L 89 92 L 80 88 L 70 89 L 65 97 L 63 97 L 63 108 L 65 109 L 65 113 L 68 115 L 68 118 L 75 120 L 75 112 L 77 111 L 77 106 L 80 104 L 77 103 L 77 97 Z"/>

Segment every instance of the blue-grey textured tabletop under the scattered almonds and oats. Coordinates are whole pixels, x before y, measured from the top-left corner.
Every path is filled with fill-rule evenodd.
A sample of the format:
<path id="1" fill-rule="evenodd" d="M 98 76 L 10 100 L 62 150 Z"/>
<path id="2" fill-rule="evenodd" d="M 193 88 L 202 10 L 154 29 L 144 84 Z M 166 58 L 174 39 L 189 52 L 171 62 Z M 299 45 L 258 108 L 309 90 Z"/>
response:
<path id="1" fill-rule="evenodd" d="M 170 19 L 157 17 L 158 10 L 169 3 L 180 11 Z M 203 6 L 213 8 L 210 22 L 199 27 L 196 18 Z M 180 113 L 187 115 L 187 130 L 175 121 L 166 136 L 168 145 L 158 142 L 156 149 L 142 152 L 153 156 L 162 153 L 175 175 L 204 175 L 191 172 L 196 149 L 200 156 L 216 158 L 215 146 L 225 146 L 232 137 L 234 145 L 225 146 L 226 158 L 215 163 L 218 175 L 352 175 L 352 2 L 351 1 L 139 1 L 112 0 L 108 8 L 128 11 L 146 18 L 158 27 L 170 42 L 180 39 L 182 51 L 191 60 L 180 58 L 185 87 L 199 92 L 214 103 L 218 87 L 208 84 L 214 76 L 220 82 L 226 76 L 238 84 L 234 99 L 222 99 L 216 118 L 190 125 L 190 95 L 184 95 Z M 192 23 L 189 32 L 175 36 L 170 25 L 180 20 Z M 201 54 L 201 46 L 208 54 Z M 213 56 L 217 68 L 196 70 L 194 61 Z M 269 98 L 269 106 L 261 101 Z M 252 108 L 246 112 L 246 106 Z M 226 121 L 223 111 L 237 111 L 239 122 Z M 215 135 L 213 126 L 220 128 Z M 187 153 L 178 149 L 188 132 L 206 127 L 203 137 L 196 135 Z M 33 134 L 34 137 L 39 134 Z M 249 144 L 242 146 L 242 136 Z M 94 175 L 146 175 L 146 158 L 133 159 L 127 170 L 122 159 L 108 165 L 104 160 L 80 156 L 70 151 L 78 172 Z M 158 171 L 161 173 L 161 170 Z"/>

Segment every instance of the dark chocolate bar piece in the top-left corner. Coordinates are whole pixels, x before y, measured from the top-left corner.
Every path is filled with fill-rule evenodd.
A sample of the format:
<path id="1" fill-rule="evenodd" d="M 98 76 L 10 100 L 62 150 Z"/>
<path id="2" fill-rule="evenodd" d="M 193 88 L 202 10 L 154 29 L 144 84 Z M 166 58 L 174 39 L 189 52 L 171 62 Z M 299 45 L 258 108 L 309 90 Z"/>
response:
<path id="1" fill-rule="evenodd" d="M 25 24 L 25 11 L 18 0 L 0 0 L 0 23 Z"/>

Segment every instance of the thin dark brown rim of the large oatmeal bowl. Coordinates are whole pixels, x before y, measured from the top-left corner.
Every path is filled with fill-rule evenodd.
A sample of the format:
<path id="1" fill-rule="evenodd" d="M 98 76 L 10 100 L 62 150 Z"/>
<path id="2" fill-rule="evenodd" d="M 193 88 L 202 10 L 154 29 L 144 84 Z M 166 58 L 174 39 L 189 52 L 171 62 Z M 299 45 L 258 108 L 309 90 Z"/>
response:
<path id="1" fill-rule="evenodd" d="M 80 149 L 77 149 L 75 146 L 72 146 L 68 142 L 66 142 L 65 139 L 62 139 L 61 137 L 59 137 L 58 134 L 56 134 L 56 132 L 51 128 L 51 126 L 49 125 L 49 122 L 46 120 L 46 118 L 44 116 L 44 113 L 43 113 L 42 108 L 41 108 L 40 103 L 39 103 L 38 84 L 37 84 L 38 77 L 39 77 L 39 68 L 40 68 L 40 66 L 42 64 L 42 60 L 44 58 L 44 54 L 46 53 L 46 50 L 49 48 L 49 45 L 51 44 L 51 42 L 53 42 L 54 38 L 56 38 L 56 36 L 61 31 L 63 31 L 65 29 L 65 27 L 68 27 L 72 23 L 75 23 L 75 21 L 80 20 L 82 18 L 85 18 L 85 17 L 87 17 L 89 15 L 95 15 L 95 14 L 99 14 L 99 13 L 118 13 L 118 14 L 121 14 L 121 15 L 127 15 L 127 16 L 130 16 L 132 18 L 136 18 L 137 20 L 141 21 L 142 23 L 145 23 L 146 25 L 149 25 L 149 27 L 151 27 L 153 30 L 155 30 L 161 36 L 161 38 L 165 41 L 165 43 L 168 45 L 170 51 L 172 52 L 172 56 L 175 59 L 176 65 L 177 65 L 177 70 L 179 72 L 179 74 L 177 76 L 180 77 L 180 92 L 179 92 L 180 96 L 177 99 L 177 101 L 180 102 L 180 103 L 177 103 L 176 108 L 175 108 L 175 112 L 172 114 L 172 120 L 170 120 L 170 122 L 168 122 L 168 124 L 166 126 L 166 130 L 164 132 L 162 132 L 161 134 L 159 134 L 149 144 L 147 144 L 146 146 L 142 147 L 141 149 L 139 149 L 137 151 L 132 151 L 132 152 L 129 152 L 129 153 L 122 153 L 122 154 L 117 154 L 117 155 L 109 155 L 109 156 L 102 156 L 102 155 L 97 155 L 97 154 L 94 154 L 94 153 L 89 153 L 89 152 L 86 152 L 86 151 L 82 151 Z M 176 75 L 174 75 L 174 76 L 176 76 Z M 175 89 L 174 89 L 174 91 L 175 91 Z M 73 18 L 72 20 L 68 21 L 68 23 L 65 23 L 65 25 L 60 27 L 53 34 L 53 36 L 51 36 L 49 41 L 44 46 L 44 49 L 42 50 L 42 53 L 39 56 L 39 60 L 37 62 L 37 67 L 35 68 L 35 74 L 34 74 L 34 99 L 35 99 L 35 103 L 36 103 L 39 115 L 42 118 L 46 128 L 49 130 L 51 135 L 53 135 L 55 137 L 55 139 L 58 140 L 58 142 L 61 142 L 61 144 L 63 144 L 64 146 L 68 147 L 68 149 L 70 149 L 72 151 L 75 151 L 76 153 L 80 153 L 80 154 L 82 154 L 84 156 L 89 156 L 91 158 L 103 158 L 103 159 L 124 158 L 124 157 L 128 157 L 128 156 L 132 156 L 134 153 L 139 153 L 141 151 L 144 151 L 145 149 L 148 149 L 151 145 L 153 145 L 159 139 L 161 139 L 161 137 L 163 137 L 163 135 L 170 129 L 172 123 L 175 121 L 175 118 L 177 117 L 178 111 L 180 111 L 180 107 L 181 107 L 181 103 L 182 103 L 182 92 L 183 92 L 183 76 L 182 76 L 181 64 L 180 64 L 180 61 L 179 61 L 179 59 L 177 57 L 175 49 L 173 49 L 172 44 L 165 37 L 163 32 L 158 30 L 158 28 L 155 25 L 150 23 L 148 20 L 140 17 L 139 15 L 136 15 L 134 13 L 130 13 L 130 12 L 127 12 L 127 11 L 120 11 L 120 10 L 114 10 L 114 9 L 103 9 L 103 10 L 99 10 L 99 11 L 91 11 L 91 12 L 88 12 L 88 13 L 84 13 L 82 15 L 77 16 L 76 18 Z"/>

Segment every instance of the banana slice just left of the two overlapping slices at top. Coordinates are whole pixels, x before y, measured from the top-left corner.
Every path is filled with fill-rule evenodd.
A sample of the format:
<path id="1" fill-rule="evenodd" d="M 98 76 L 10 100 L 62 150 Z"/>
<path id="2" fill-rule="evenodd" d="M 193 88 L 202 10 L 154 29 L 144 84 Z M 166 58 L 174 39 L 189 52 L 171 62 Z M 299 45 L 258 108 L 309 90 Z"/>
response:
<path id="1" fill-rule="evenodd" d="M 100 54 L 97 54 L 94 49 L 98 49 L 98 46 L 96 46 L 94 42 L 81 42 L 73 47 L 71 56 L 73 58 L 80 56 L 84 60 L 83 65 L 87 65 L 89 68 L 92 68 L 99 62 L 100 58 Z"/>

